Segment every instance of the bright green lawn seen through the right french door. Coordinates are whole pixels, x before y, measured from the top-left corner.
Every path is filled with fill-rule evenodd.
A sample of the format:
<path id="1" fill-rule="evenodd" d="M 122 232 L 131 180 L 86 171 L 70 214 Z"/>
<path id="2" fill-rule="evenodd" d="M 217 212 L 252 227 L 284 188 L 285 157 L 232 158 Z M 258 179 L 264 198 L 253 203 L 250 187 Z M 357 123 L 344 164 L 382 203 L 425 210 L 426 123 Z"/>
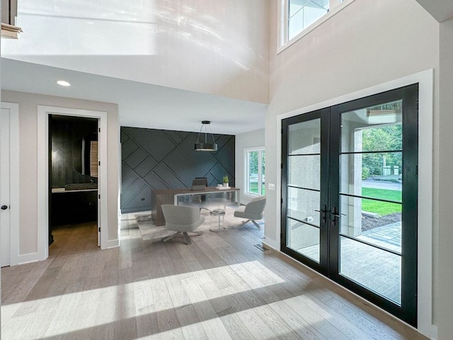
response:
<path id="1" fill-rule="evenodd" d="M 401 191 L 375 188 L 362 188 L 362 196 L 382 198 L 401 202 Z M 362 199 L 362 210 L 374 212 L 380 216 L 401 212 L 401 204 L 379 202 L 377 200 Z"/>

